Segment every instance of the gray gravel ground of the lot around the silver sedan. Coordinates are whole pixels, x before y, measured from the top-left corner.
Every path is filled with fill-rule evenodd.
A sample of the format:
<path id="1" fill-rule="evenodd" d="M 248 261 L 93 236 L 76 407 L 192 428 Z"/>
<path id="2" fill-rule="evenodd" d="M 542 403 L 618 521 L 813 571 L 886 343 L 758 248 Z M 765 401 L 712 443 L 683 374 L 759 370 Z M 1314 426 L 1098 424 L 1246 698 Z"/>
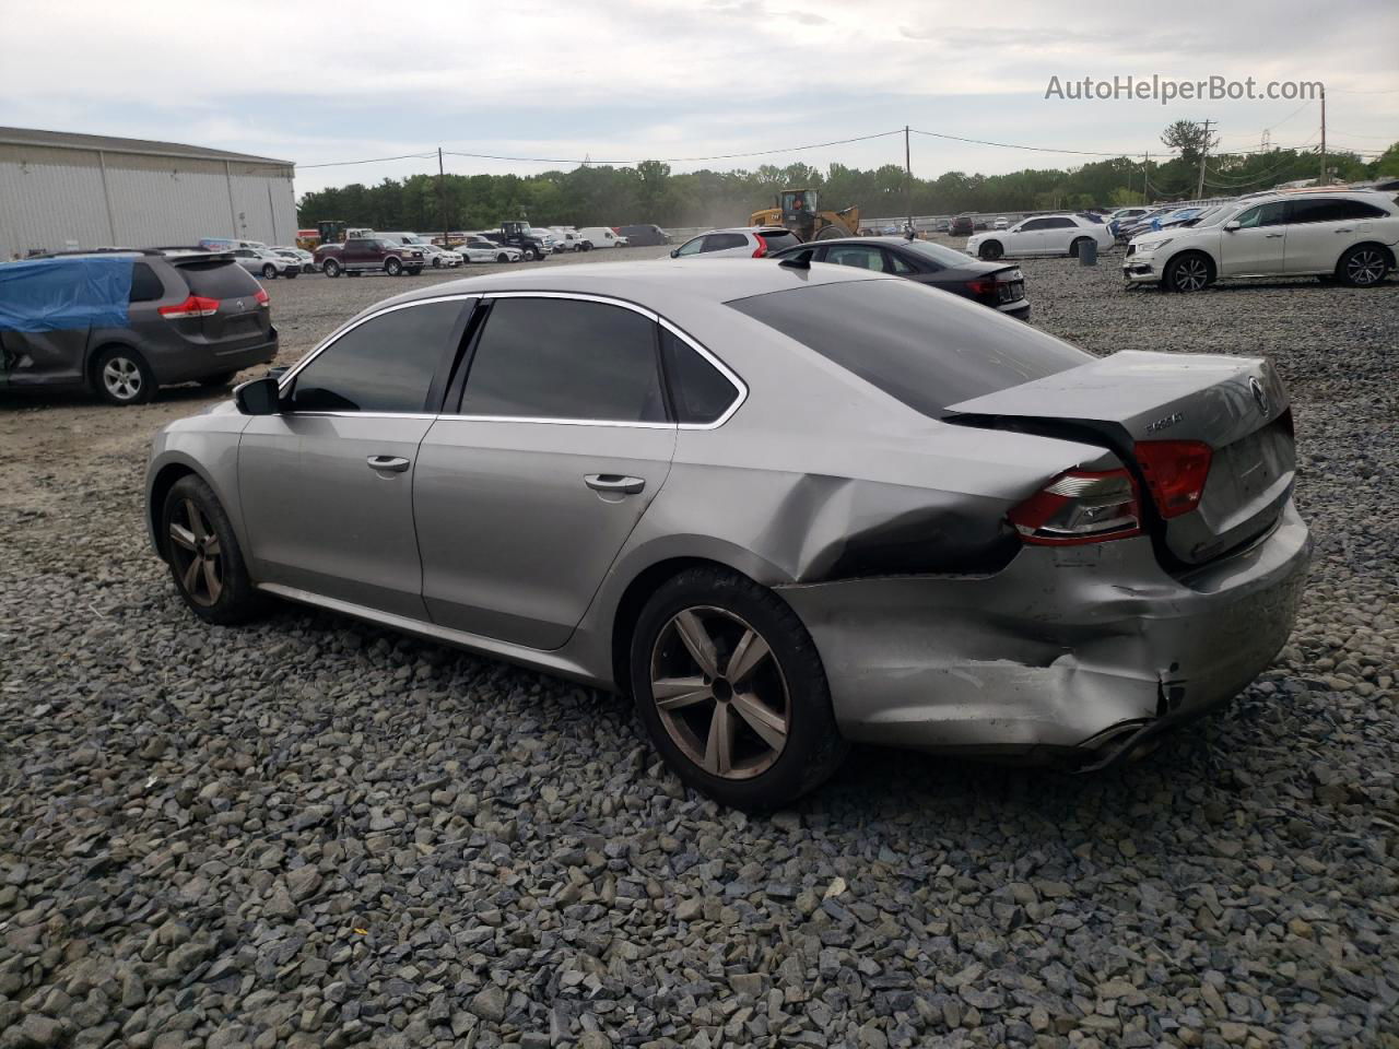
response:
<path id="1" fill-rule="evenodd" d="M 623 699 L 186 614 L 141 476 L 204 392 L 0 401 L 0 1049 L 1399 1046 L 1399 284 L 1126 292 L 1115 260 L 1025 263 L 1034 323 L 1290 385 L 1294 638 L 1130 768 L 858 750 L 771 818 L 660 773 Z M 270 284 L 285 359 L 406 287 Z"/>

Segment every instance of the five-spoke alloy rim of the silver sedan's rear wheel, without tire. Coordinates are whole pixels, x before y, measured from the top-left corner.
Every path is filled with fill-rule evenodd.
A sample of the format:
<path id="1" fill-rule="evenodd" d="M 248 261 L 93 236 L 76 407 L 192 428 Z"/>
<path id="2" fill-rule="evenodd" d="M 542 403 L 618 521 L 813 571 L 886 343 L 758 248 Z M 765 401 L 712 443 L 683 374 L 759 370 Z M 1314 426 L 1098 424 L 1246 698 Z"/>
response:
<path id="1" fill-rule="evenodd" d="M 723 608 L 686 608 L 666 622 L 651 652 L 651 695 L 674 744 L 712 776 L 751 779 L 786 747 L 792 704 L 776 655 Z"/>

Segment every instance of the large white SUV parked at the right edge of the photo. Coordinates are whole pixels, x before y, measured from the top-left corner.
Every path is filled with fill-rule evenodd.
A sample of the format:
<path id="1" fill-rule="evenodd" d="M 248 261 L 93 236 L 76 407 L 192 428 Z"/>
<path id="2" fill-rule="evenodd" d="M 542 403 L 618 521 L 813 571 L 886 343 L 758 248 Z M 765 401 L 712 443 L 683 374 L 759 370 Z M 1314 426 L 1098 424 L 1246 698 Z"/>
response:
<path id="1" fill-rule="evenodd" d="M 1385 193 L 1308 190 L 1237 200 L 1193 225 L 1142 234 L 1128 245 L 1130 284 L 1199 291 L 1233 277 L 1321 277 L 1379 284 L 1395 266 L 1399 206 Z"/>

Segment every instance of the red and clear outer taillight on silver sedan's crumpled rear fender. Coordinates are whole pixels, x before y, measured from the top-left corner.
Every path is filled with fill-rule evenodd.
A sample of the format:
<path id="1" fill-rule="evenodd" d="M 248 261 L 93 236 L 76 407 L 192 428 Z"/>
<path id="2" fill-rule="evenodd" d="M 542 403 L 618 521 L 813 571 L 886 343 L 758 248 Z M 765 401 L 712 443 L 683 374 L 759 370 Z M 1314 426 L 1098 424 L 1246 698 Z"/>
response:
<path id="1" fill-rule="evenodd" d="M 1142 533 L 1136 483 L 1126 470 L 1069 470 L 1007 516 L 1021 540 L 1046 547 Z"/>

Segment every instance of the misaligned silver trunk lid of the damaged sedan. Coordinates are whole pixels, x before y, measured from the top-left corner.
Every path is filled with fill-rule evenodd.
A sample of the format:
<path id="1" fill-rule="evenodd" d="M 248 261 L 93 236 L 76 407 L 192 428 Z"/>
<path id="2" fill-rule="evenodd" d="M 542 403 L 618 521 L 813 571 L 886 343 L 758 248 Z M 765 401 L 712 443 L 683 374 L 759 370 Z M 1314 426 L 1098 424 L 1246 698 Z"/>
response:
<path id="1" fill-rule="evenodd" d="M 1269 529 L 1295 478 L 1287 392 L 1260 358 L 1213 354 L 1112 357 L 953 404 L 949 422 L 1023 429 L 1046 436 L 1097 438 L 1139 474 L 1144 441 L 1198 441 L 1212 459 L 1199 504 L 1151 530 L 1171 557 L 1199 565 Z"/>

